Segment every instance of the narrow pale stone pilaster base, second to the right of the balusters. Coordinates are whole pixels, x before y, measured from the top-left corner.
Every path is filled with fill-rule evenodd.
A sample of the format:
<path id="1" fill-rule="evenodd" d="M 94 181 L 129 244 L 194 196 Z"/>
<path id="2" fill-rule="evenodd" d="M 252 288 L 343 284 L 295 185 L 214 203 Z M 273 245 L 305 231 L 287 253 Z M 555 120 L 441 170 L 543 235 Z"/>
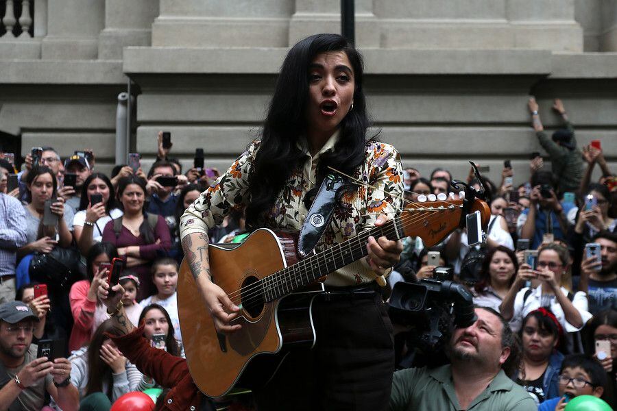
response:
<path id="1" fill-rule="evenodd" d="M 123 47 L 149 46 L 156 16 L 158 0 L 106 0 L 99 59 L 122 60 Z"/>

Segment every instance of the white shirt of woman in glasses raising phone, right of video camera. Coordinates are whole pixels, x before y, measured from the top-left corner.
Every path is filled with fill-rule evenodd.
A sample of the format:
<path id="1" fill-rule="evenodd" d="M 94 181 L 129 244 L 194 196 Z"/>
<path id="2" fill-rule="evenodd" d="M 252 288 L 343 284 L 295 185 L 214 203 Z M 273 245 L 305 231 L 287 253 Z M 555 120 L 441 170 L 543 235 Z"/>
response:
<path id="1" fill-rule="evenodd" d="M 557 302 L 557 297 L 555 295 L 544 295 L 544 299 L 548 301 L 544 301 L 544 304 L 542 304 L 542 284 L 531 291 L 531 294 L 527 297 L 527 300 L 524 301 L 523 305 L 524 295 L 527 290 L 529 290 L 528 287 L 521 288 L 514 299 L 514 314 L 510 321 L 510 328 L 513 332 L 518 332 L 518 330 L 520 330 L 522 321 L 527 314 L 542 306 L 545 308 L 548 306 L 548 308 L 551 309 L 551 312 L 555 314 L 557 321 L 559 321 L 559 324 L 561 324 L 565 332 L 577 332 L 582 328 L 574 327 L 574 325 L 566 321 L 566 314 L 564 314 L 564 310 L 561 308 L 559 302 Z M 564 287 L 561 287 L 561 292 L 563 292 L 564 295 L 568 295 L 568 290 Z M 581 314 L 583 325 L 585 325 L 585 323 L 592 318 L 592 314 L 588 311 L 589 302 L 585 292 L 579 291 L 574 294 L 572 305 L 578 310 L 579 314 Z"/>

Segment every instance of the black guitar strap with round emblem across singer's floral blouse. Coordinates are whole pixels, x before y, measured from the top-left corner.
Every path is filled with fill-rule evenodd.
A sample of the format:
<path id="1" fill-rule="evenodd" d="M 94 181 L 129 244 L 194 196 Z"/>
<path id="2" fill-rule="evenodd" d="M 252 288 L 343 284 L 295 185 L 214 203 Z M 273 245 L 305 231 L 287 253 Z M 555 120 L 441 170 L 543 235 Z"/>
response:
<path id="1" fill-rule="evenodd" d="M 326 227 L 330 224 L 332 214 L 337 205 L 337 192 L 343 186 L 343 177 L 328 174 L 319 186 L 315 200 L 311 204 L 309 214 L 306 215 L 300 238 L 298 238 L 298 255 L 302 258 L 309 256 L 317 242 L 322 238 Z"/>

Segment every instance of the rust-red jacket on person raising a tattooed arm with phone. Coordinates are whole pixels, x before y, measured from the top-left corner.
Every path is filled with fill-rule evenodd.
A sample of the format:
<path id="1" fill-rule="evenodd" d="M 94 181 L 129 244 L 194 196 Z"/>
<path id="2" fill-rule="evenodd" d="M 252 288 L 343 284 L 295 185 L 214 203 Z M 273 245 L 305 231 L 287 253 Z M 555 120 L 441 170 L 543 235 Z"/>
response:
<path id="1" fill-rule="evenodd" d="M 189 364 L 184 358 L 172 356 L 165 350 L 150 347 L 143 336 L 143 325 L 124 336 L 108 334 L 124 356 L 144 373 L 165 388 L 171 388 L 165 397 L 162 410 L 186 411 L 201 410 L 200 405 L 205 396 L 193 382 L 189 373 Z M 210 401 L 208 401 L 210 403 Z M 204 404 L 204 410 L 214 410 L 211 403 Z"/>

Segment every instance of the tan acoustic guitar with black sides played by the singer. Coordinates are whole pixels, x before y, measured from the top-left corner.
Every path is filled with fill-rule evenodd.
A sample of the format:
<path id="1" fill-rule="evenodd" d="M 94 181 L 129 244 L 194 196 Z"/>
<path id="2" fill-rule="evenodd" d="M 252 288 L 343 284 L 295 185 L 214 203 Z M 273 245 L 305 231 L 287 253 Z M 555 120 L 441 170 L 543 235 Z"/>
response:
<path id="1" fill-rule="evenodd" d="M 210 244 L 213 282 L 241 308 L 232 324 L 242 328 L 219 334 L 186 260 L 178 279 L 178 314 L 182 343 L 193 381 L 205 395 L 221 397 L 236 385 L 254 387 L 274 375 L 284 353 L 296 346 L 312 347 L 315 329 L 311 304 L 321 292 L 315 284 L 343 266 L 367 256 L 369 236 L 399 240 L 420 236 L 436 245 L 459 227 L 462 200 L 415 203 L 382 227 L 372 227 L 304 259 L 297 254 L 297 235 L 257 229 L 234 248 Z M 490 216 L 479 199 L 483 227 Z M 311 288 L 313 287 L 313 288 Z M 323 290 L 323 288 L 321 288 Z M 272 355 L 276 354 L 276 355 Z"/>

